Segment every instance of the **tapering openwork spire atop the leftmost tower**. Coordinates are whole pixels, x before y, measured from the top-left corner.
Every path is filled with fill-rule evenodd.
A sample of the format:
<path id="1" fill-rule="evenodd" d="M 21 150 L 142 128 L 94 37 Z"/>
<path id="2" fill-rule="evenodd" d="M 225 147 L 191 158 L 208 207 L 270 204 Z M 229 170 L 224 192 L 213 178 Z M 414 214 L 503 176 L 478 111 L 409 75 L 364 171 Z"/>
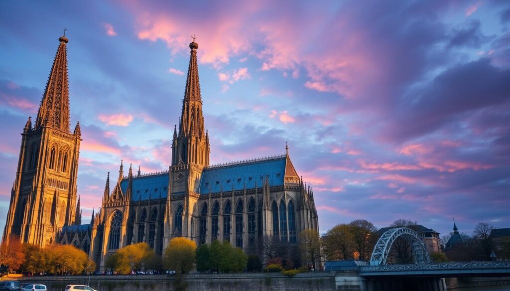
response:
<path id="1" fill-rule="evenodd" d="M 37 113 L 36 129 L 48 124 L 69 132 L 69 84 L 67 77 L 67 37 L 59 38 L 52 70 Z"/>

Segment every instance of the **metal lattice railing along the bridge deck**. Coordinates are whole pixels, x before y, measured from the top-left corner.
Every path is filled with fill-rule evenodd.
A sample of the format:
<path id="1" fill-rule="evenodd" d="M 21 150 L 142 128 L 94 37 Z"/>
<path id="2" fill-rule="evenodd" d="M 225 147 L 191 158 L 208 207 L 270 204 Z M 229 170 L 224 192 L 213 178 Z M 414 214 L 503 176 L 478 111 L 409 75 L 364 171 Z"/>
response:
<path id="1" fill-rule="evenodd" d="M 380 266 L 361 266 L 361 272 L 384 271 L 425 271 L 425 270 L 463 270 L 463 269 L 508 269 L 510 261 L 480 261 L 480 262 L 441 262 L 416 264 L 385 264 Z"/>

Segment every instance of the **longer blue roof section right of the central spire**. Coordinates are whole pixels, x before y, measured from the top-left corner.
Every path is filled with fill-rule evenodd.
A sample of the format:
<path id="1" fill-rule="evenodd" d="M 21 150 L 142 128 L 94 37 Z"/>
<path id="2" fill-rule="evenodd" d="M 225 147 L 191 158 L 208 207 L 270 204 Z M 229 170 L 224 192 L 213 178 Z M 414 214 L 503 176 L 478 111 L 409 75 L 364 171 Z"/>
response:
<path id="1" fill-rule="evenodd" d="M 286 155 L 260 158 L 247 162 L 211 166 L 203 169 L 199 191 L 201 194 L 262 188 L 266 177 L 269 187 L 284 184 Z M 295 170 L 294 170 L 295 171 Z M 245 186 L 246 185 L 246 186 Z"/>

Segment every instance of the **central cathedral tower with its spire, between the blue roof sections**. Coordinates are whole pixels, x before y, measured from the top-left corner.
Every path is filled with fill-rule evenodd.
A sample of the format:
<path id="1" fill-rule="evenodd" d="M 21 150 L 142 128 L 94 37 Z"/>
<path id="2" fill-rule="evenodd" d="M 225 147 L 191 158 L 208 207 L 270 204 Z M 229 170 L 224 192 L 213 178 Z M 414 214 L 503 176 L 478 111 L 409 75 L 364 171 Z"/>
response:
<path id="1" fill-rule="evenodd" d="M 179 120 L 179 134 L 174 128 L 172 142 L 172 166 L 169 169 L 168 214 L 165 221 L 165 242 L 172 236 L 193 239 L 193 213 L 199 198 L 200 178 L 204 167 L 209 166 L 209 133 L 202 115 L 202 98 L 198 80 L 196 50 L 198 44 L 190 43 L 190 63 L 186 78 L 183 108 Z M 177 217 L 172 216 L 175 214 Z M 178 214 L 178 215 L 177 215 Z M 173 221 L 174 220 L 174 221 Z M 172 225 L 172 227 L 170 227 Z"/>

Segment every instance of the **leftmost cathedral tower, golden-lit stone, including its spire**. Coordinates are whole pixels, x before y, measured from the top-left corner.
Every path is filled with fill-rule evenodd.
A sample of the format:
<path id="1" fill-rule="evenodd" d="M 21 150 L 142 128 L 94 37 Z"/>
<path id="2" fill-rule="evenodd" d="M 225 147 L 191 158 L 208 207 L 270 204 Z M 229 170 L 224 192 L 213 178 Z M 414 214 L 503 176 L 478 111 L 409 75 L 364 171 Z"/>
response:
<path id="1" fill-rule="evenodd" d="M 45 246 L 64 225 L 75 222 L 80 123 L 69 130 L 67 51 L 59 38 L 34 127 L 29 117 L 21 134 L 18 168 L 11 191 L 3 241 Z"/>

